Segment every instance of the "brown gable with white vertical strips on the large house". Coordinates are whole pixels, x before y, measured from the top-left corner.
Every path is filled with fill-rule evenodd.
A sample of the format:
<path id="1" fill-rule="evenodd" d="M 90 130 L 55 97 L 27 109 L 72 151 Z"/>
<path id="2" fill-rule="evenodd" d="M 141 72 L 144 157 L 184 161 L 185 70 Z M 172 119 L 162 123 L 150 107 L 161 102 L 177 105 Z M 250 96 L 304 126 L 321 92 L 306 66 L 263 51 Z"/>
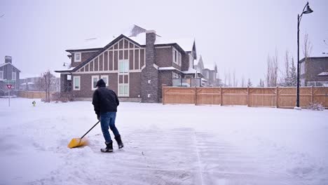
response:
<path id="1" fill-rule="evenodd" d="M 128 60 L 130 71 L 140 71 L 145 64 L 145 55 L 144 47 L 121 35 L 73 71 L 74 73 L 117 72 L 119 60 Z"/>

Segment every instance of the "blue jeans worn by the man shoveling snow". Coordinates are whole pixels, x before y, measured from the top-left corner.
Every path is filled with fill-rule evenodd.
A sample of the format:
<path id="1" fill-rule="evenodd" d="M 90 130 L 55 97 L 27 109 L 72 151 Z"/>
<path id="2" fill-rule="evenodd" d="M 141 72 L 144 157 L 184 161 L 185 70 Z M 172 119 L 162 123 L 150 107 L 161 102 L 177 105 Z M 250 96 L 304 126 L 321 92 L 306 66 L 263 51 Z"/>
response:
<path id="1" fill-rule="evenodd" d="M 105 112 L 100 114 L 100 123 L 102 125 L 102 135 L 107 143 L 111 141 L 111 135 L 109 135 L 109 128 L 114 133 L 115 137 L 120 135 L 115 126 L 116 112 Z"/>

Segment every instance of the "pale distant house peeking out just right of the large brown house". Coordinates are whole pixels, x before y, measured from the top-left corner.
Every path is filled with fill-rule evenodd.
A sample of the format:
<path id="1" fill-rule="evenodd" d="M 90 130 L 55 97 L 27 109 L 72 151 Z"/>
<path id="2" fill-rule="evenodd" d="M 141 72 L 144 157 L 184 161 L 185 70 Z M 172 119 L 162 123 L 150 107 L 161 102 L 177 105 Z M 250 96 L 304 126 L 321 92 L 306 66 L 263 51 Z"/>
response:
<path id="1" fill-rule="evenodd" d="M 214 65 L 214 69 L 210 69 L 210 67 L 205 67 L 203 58 L 200 55 L 198 64 L 195 65 L 195 69 L 197 71 L 201 71 L 203 76 L 202 85 L 207 87 L 217 87 L 219 86 L 219 78 L 217 78 L 217 64 Z"/>

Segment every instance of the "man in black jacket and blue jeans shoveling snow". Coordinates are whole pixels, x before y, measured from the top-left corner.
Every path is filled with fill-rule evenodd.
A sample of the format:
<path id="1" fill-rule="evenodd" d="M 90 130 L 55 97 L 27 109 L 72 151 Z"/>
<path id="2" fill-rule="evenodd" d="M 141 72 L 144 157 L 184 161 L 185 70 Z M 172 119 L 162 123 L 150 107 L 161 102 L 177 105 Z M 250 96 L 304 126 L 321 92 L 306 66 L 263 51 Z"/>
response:
<path id="1" fill-rule="evenodd" d="M 113 90 L 106 88 L 104 80 L 100 79 L 97 81 L 96 87 L 97 89 L 95 90 L 95 93 L 93 93 L 93 107 L 95 108 L 97 119 L 102 126 L 102 134 L 104 135 L 106 144 L 106 148 L 100 149 L 100 151 L 113 152 L 113 141 L 109 134 L 109 128 L 111 128 L 111 131 L 114 133 L 118 149 L 123 148 L 121 135 L 115 126 L 117 107 L 120 102 L 118 101 L 116 93 Z"/>

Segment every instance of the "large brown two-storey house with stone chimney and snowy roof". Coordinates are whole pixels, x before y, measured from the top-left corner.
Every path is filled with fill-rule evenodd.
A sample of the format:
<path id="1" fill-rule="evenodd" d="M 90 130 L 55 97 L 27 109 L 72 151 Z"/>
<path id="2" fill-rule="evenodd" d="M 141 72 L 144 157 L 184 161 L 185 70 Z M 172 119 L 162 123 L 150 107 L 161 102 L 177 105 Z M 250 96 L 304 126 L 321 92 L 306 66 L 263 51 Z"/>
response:
<path id="1" fill-rule="evenodd" d="M 71 68 L 57 70 L 61 91 L 76 99 L 90 99 L 102 78 L 121 100 L 159 102 L 162 85 L 173 85 L 173 78 L 195 77 L 197 58 L 194 39 L 165 40 L 153 30 L 134 25 L 103 48 L 66 50 Z"/>

